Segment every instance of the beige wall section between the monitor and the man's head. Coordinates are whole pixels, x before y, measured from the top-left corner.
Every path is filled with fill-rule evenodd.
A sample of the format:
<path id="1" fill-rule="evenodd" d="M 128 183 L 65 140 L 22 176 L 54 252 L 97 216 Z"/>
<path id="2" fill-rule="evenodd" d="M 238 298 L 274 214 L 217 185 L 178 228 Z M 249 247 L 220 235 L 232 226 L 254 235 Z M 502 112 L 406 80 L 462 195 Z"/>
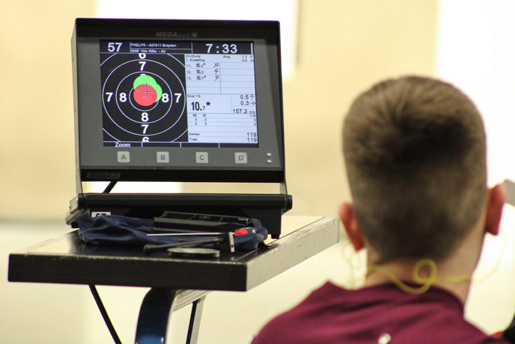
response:
<path id="1" fill-rule="evenodd" d="M 343 115 L 381 78 L 433 74 L 436 15 L 436 0 L 301 3 L 298 73 L 284 85 L 286 180 L 296 214 L 336 215 L 350 198 Z"/>

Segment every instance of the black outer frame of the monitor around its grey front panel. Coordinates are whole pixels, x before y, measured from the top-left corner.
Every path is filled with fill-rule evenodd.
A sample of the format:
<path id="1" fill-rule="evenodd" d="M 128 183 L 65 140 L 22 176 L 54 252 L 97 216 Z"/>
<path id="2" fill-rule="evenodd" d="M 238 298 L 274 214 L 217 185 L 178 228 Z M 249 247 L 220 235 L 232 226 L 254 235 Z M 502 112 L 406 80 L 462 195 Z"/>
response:
<path id="1" fill-rule="evenodd" d="M 273 103 L 273 130 L 268 138 L 277 140 L 278 166 L 218 166 L 204 168 L 193 166 L 192 168 L 161 168 L 141 166 L 94 166 L 85 164 L 81 159 L 81 147 L 88 145 L 87 133 L 81 132 L 81 113 L 84 104 L 88 102 L 101 102 L 86 94 L 83 90 L 82 74 L 78 68 L 77 45 L 83 40 L 106 39 L 112 36 L 148 39 L 156 36 L 156 32 L 166 32 L 171 37 L 161 39 L 192 39 L 188 37 L 191 32 L 199 32 L 198 39 L 202 39 L 203 32 L 210 32 L 211 37 L 256 37 L 266 40 L 267 61 L 272 71 L 270 83 Z M 245 35 L 242 35 L 245 32 Z M 230 33 L 230 35 L 228 35 Z M 174 34 L 176 36 L 174 36 Z M 165 36 L 166 36 L 165 35 Z M 177 36 L 178 35 L 178 36 Z M 268 45 L 274 47 L 268 49 Z M 143 19 L 76 19 L 72 36 L 72 56 L 74 71 L 74 101 L 75 101 L 75 130 L 76 130 L 76 165 L 77 176 L 84 181 L 174 181 L 174 182 L 284 182 L 284 128 L 283 128 L 283 104 L 282 104 L 282 78 L 280 61 L 280 37 L 279 22 L 273 21 L 212 21 L 212 20 L 143 20 Z M 79 62 L 80 63 L 80 62 Z M 99 67 L 98 67 L 99 68 Z M 81 90 L 82 88 L 82 90 Z M 100 82 L 98 83 L 100 88 Z M 256 90 L 258 92 L 258 90 Z M 79 99 L 80 98 L 80 99 Z M 87 99 L 84 99 L 87 98 Z M 96 105 L 98 106 L 98 104 Z M 259 116 L 259 115 L 258 115 Z M 261 125 L 259 125 L 258 130 Z M 270 136 L 272 135 L 272 136 Z M 261 139 L 260 139 L 261 140 Z M 85 143 L 84 143 L 85 142 Z M 88 149 L 88 148 L 82 148 Z M 259 149 L 259 148 L 258 148 Z M 276 161 L 277 161 L 276 160 Z"/>

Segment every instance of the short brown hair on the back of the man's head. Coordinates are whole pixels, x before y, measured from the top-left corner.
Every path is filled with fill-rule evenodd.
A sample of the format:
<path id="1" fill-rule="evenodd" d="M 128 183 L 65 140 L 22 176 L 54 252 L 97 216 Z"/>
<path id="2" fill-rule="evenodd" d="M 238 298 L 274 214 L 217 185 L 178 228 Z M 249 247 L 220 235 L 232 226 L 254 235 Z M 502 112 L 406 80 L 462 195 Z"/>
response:
<path id="1" fill-rule="evenodd" d="M 388 79 L 352 103 L 344 156 L 359 226 L 384 262 L 447 257 L 486 193 L 483 122 L 440 80 Z"/>

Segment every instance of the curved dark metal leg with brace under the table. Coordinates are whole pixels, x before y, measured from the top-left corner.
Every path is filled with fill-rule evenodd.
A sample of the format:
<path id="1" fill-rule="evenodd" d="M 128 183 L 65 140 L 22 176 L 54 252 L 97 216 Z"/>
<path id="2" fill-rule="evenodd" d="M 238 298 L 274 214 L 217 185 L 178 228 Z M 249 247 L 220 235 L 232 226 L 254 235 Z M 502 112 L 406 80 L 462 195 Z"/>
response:
<path id="1" fill-rule="evenodd" d="M 209 290 L 151 288 L 141 304 L 135 343 L 165 343 L 170 314 L 176 309 L 193 303 L 186 344 L 195 344 L 198 338 L 203 301 L 209 292 Z"/>

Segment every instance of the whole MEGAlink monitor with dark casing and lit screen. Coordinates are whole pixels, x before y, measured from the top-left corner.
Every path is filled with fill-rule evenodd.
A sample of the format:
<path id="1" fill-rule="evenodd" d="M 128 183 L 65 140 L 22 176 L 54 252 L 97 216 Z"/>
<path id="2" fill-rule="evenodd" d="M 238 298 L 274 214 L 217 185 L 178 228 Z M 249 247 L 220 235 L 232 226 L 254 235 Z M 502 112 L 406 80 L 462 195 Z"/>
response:
<path id="1" fill-rule="evenodd" d="M 278 22 L 77 19 L 81 181 L 284 181 Z"/>

